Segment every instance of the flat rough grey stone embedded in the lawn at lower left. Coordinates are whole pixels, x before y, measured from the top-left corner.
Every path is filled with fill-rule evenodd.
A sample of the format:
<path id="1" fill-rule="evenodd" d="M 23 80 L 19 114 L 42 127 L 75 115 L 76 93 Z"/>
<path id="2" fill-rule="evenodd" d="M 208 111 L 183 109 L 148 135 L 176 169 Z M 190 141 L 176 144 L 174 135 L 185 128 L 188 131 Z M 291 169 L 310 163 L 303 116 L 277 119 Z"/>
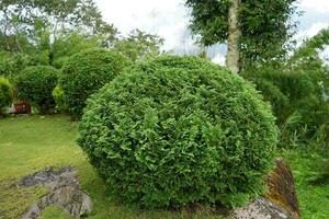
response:
<path id="1" fill-rule="evenodd" d="M 21 180 L 20 186 L 45 186 L 49 194 L 39 198 L 23 214 L 22 219 L 35 219 L 48 206 L 63 208 L 75 218 L 87 215 L 92 209 L 90 197 L 81 191 L 76 171 L 64 168 L 54 171 L 52 168 L 27 175 Z"/>

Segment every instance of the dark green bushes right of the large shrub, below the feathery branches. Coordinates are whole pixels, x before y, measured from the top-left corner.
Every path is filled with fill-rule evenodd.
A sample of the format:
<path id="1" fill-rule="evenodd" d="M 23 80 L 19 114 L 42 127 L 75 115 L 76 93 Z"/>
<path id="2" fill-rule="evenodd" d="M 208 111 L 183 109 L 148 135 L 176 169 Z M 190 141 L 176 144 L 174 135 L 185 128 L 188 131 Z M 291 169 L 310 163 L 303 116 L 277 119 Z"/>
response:
<path id="1" fill-rule="evenodd" d="M 322 70 L 262 69 L 251 77 L 273 105 L 282 147 L 329 142 L 329 69 Z"/>

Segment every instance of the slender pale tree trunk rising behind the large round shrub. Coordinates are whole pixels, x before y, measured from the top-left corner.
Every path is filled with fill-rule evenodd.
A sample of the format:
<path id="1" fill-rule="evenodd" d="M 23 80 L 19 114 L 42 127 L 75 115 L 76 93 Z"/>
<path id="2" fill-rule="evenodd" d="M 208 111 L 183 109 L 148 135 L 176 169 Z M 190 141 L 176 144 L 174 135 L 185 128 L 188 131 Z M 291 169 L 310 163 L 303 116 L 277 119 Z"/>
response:
<path id="1" fill-rule="evenodd" d="M 228 39 L 227 39 L 227 59 L 226 65 L 234 73 L 238 73 L 240 60 L 240 37 L 241 30 L 239 26 L 239 7 L 241 0 L 231 0 L 228 9 Z"/>

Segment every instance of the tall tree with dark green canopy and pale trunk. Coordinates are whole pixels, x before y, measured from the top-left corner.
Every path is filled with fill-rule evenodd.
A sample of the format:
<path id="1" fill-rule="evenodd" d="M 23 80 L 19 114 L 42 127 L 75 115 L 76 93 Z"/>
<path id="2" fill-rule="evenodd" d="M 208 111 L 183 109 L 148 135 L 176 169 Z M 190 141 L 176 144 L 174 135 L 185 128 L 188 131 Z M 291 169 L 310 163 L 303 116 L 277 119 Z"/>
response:
<path id="1" fill-rule="evenodd" d="M 186 0 L 191 30 L 204 46 L 228 44 L 234 71 L 285 58 L 296 0 Z"/>

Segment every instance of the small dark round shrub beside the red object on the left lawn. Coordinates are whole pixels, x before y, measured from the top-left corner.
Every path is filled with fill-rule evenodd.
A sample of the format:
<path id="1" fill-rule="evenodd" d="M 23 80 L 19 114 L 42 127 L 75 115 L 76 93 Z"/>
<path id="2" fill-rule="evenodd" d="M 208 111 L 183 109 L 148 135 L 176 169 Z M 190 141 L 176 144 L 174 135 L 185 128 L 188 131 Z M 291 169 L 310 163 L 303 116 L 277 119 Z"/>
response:
<path id="1" fill-rule="evenodd" d="M 27 67 L 15 78 L 18 99 L 27 101 L 42 114 L 52 113 L 56 105 L 52 92 L 57 80 L 58 71 L 53 67 Z"/>

